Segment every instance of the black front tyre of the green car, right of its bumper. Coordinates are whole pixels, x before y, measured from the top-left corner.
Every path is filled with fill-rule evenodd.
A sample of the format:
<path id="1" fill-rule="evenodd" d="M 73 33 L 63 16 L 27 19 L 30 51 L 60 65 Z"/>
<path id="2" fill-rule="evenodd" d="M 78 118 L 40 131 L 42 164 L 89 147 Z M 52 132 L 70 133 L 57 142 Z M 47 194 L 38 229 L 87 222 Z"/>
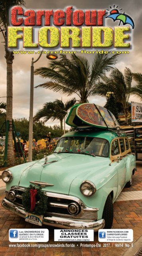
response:
<path id="1" fill-rule="evenodd" d="M 111 228 L 113 224 L 113 202 L 110 194 L 105 202 L 102 218 L 105 220 L 104 228 Z"/>

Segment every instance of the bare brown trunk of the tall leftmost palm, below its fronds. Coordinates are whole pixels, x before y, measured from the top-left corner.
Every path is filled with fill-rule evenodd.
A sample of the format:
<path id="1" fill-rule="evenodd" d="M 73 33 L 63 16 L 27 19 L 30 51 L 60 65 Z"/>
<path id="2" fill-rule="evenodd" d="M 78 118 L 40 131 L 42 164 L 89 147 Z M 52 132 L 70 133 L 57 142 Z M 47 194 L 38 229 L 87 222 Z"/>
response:
<path id="1" fill-rule="evenodd" d="M 12 141 L 12 62 L 13 62 L 13 52 L 6 50 L 6 63 L 7 63 L 7 102 L 6 102 L 6 120 L 9 120 L 9 130 L 8 130 L 8 154 L 7 162 L 11 166 L 15 164 L 14 158 L 14 147 Z"/>

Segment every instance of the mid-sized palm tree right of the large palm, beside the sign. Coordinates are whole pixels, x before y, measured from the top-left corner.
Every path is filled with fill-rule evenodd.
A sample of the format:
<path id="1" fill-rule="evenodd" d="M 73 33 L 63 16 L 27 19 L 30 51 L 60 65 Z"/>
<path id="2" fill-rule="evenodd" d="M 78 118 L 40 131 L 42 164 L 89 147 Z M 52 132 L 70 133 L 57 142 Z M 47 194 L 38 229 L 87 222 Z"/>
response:
<path id="1" fill-rule="evenodd" d="M 116 102 L 123 105 L 126 123 L 128 123 L 128 100 L 132 90 L 132 72 L 125 68 L 124 76 L 117 68 L 113 69 L 110 77 L 104 76 L 95 87 L 94 93 L 106 96 L 107 92 L 114 92 Z"/>

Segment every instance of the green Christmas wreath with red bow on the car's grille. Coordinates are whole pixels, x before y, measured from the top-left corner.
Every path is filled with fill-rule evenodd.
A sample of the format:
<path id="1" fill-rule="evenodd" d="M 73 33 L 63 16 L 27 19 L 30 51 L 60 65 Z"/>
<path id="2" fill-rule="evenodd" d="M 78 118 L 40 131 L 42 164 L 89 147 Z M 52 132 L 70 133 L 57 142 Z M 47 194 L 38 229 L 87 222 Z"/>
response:
<path id="1" fill-rule="evenodd" d="M 48 198 L 41 190 L 30 185 L 22 194 L 22 203 L 26 212 L 34 212 L 36 215 L 44 215 L 47 212 Z"/>

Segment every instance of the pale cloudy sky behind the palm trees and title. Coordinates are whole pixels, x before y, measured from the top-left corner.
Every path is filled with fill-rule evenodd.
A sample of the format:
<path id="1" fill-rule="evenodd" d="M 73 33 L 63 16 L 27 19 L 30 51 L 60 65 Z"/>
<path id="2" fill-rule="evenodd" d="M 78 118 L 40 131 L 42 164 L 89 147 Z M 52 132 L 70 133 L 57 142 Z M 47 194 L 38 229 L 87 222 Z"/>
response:
<path id="1" fill-rule="evenodd" d="M 142 73 L 142 32 L 141 32 L 141 24 L 142 24 L 142 0 L 117 0 L 114 2 L 113 0 L 25 0 L 27 9 L 62 9 L 65 10 L 67 6 L 73 6 L 74 9 L 110 9 L 109 6 L 113 6 L 114 4 L 119 5 L 119 9 L 123 8 L 122 12 L 128 14 L 133 20 L 135 24 L 134 30 L 131 29 L 131 44 L 132 49 L 130 50 L 130 54 L 119 56 L 118 62 L 115 67 L 119 68 L 122 72 L 124 72 L 124 68 L 130 68 L 132 72 L 140 72 Z M 106 26 L 111 26 L 113 28 L 114 23 L 113 20 L 109 19 L 109 21 L 105 21 Z M 118 24 L 115 24 L 115 26 Z M 2 34 L 2 33 L 0 33 Z M 3 41 L 2 35 L 0 35 L 0 42 Z M 49 49 L 50 50 L 50 49 Z M 91 49 L 93 50 L 93 49 Z M 3 43 L 0 43 L 0 97 L 6 96 L 6 60 L 4 58 L 4 46 Z M 15 54 L 14 62 L 13 62 L 13 118 L 29 118 L 29 94 L 30 94 L 30 66 L 31 66 L 31 58 L 37 58 L 37 54 Z M 86 55 L 90 64 L 93 60 L 93 55 Z M 48 66 L 49 60 L 45 57 L 45 55 L 41 56 L 40 60 L 35 63 L 35 68 L 41 66 Z M 43 83 L 45 80 L 40 78 L 39 76 L 34 77 L 34 86 Z M 52 92 L 51 90 L 46 90 L 42 88 L 37 88 L 34 90 L 34 114 L 38 109 L 42 108 L 45 102 L 53 101 L 56 98 L 61 99 L 65 102 L 69 99 L 69 97 L 65 95 L 61 95 L 56 92 Z M 77 98 L 77 97 L 76 97 Z M 1 100 L 6 100 L 6 98 L 2 98 Z M 77 98 L 78 99 L 78 98 Z M 130 101 L 140 102 L 135 97 L 130 97 Z M 101 98 L 98 96 L 93 96 L 89 98 L 89 102 L 94 102 L 103 106 L 105 104 L 105 98 Z M 56 122 L 46 123 L 47 125 L 59 124 Z M 67 127 L 66 127 L 67 128 Z"/>

